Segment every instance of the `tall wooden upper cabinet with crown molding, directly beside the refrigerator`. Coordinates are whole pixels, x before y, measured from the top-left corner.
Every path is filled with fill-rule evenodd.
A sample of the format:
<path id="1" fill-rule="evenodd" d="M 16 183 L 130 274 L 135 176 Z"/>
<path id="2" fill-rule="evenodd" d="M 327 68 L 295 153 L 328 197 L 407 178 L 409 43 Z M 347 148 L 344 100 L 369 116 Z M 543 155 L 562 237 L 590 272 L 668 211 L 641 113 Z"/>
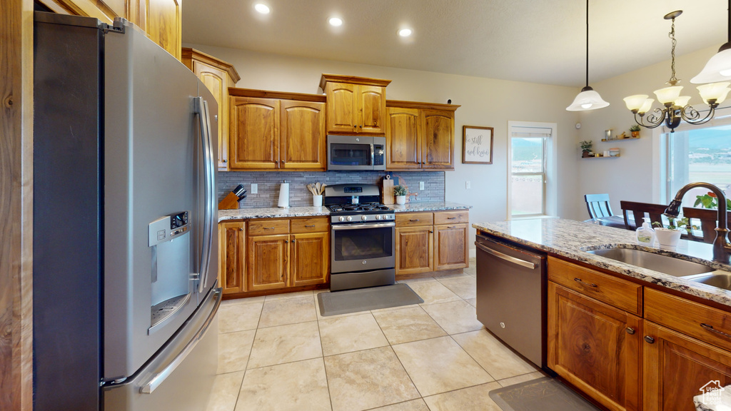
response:
<path id="1" fill-rule="evenodd" d="M 228 170 L 229 151 L 228 88 L 235 86 L 240 77 L 231 64 L 192 48 L 183 48 L 182 58 L 183 64 L 200 78 L 219 104 L 216 116 L 219 141 L 218 164 L 219 171 L 226 171 Z"/>

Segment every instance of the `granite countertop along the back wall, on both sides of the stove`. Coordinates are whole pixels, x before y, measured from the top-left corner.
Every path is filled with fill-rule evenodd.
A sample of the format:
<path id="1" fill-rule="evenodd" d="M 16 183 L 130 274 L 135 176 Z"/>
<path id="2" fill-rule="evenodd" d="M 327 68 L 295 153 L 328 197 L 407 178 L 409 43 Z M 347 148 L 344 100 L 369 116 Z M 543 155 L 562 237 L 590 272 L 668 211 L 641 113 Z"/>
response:
<path id="1" fill-rule="evenodd" d="M 463 210 L 472 208 L 459 203 L 450 203 L 448 201 L 428 201 L 423 203 L 407 203 L 405 206 L 393 204 L 390 206 L 396 213 L 404 211 L 443 211 L 443 210 Z M 309 216 L 329 216 L 330 211 L 325 207 L 261 207 L 261 208 L 238 208 L 236 210 L 219 210 L 219 222 L 226 220 L 240 219 L 273 219 L 286 217 L 309 217 Z"/>

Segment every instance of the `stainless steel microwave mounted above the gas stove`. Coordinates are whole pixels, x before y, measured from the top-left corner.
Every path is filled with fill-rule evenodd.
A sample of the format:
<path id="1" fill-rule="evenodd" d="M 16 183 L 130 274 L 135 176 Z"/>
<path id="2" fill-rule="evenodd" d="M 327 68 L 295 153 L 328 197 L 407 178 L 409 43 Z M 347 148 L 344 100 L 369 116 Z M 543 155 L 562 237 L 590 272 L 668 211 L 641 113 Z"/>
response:
<path id="1" fill-rule="evenodd" d="M 327 170 L 386 170 L 386 137 L 328 135 Z"/>

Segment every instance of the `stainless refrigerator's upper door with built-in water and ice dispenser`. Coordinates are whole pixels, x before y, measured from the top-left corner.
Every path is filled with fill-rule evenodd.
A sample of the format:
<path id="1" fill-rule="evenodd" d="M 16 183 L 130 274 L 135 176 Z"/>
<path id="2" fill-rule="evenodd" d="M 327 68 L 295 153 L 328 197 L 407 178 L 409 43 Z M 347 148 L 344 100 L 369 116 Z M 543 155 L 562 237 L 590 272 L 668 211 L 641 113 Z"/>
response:
<path id="1" fill-rule="evenodd" d="M 124 29 L 104 44 L 104 381 L 137 372 L 207 290 L 195 102 L 208 90 L 142 31 Z M 171 239 L 174 222 L 189 230 Z"/>

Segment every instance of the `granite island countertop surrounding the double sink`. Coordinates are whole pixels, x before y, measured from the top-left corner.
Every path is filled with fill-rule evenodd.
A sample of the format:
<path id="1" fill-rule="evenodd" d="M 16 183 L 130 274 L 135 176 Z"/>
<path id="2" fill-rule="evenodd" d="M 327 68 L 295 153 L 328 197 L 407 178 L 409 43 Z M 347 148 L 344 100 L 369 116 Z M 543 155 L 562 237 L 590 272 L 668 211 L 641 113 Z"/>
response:
<path id="1" fill-rule="evenodd" d="M 670 255 L 683 260 L 710 265 L 716 270 L 731 271 L 730 264 L 712 261 L 713 249 L 711 244 L 681 240 L 675 252 L 657 248 L 650 249 L 646 246 L 637 245 L 634 231 L 615 227 L 604 227 L 568 219 L 526 219 L 510 222 L 485 222 L 475 223 L 472 227 L 534 249 L 541 249 L 545 252 L 558 254 L 635 279 L 731 306 L 731 291 L 637 267 L 636 265 L 621 263 L 620 261 L 586 252 L 594 249 L 615 247 L 644 249 L 651 250 L 657 254 Z"/>

